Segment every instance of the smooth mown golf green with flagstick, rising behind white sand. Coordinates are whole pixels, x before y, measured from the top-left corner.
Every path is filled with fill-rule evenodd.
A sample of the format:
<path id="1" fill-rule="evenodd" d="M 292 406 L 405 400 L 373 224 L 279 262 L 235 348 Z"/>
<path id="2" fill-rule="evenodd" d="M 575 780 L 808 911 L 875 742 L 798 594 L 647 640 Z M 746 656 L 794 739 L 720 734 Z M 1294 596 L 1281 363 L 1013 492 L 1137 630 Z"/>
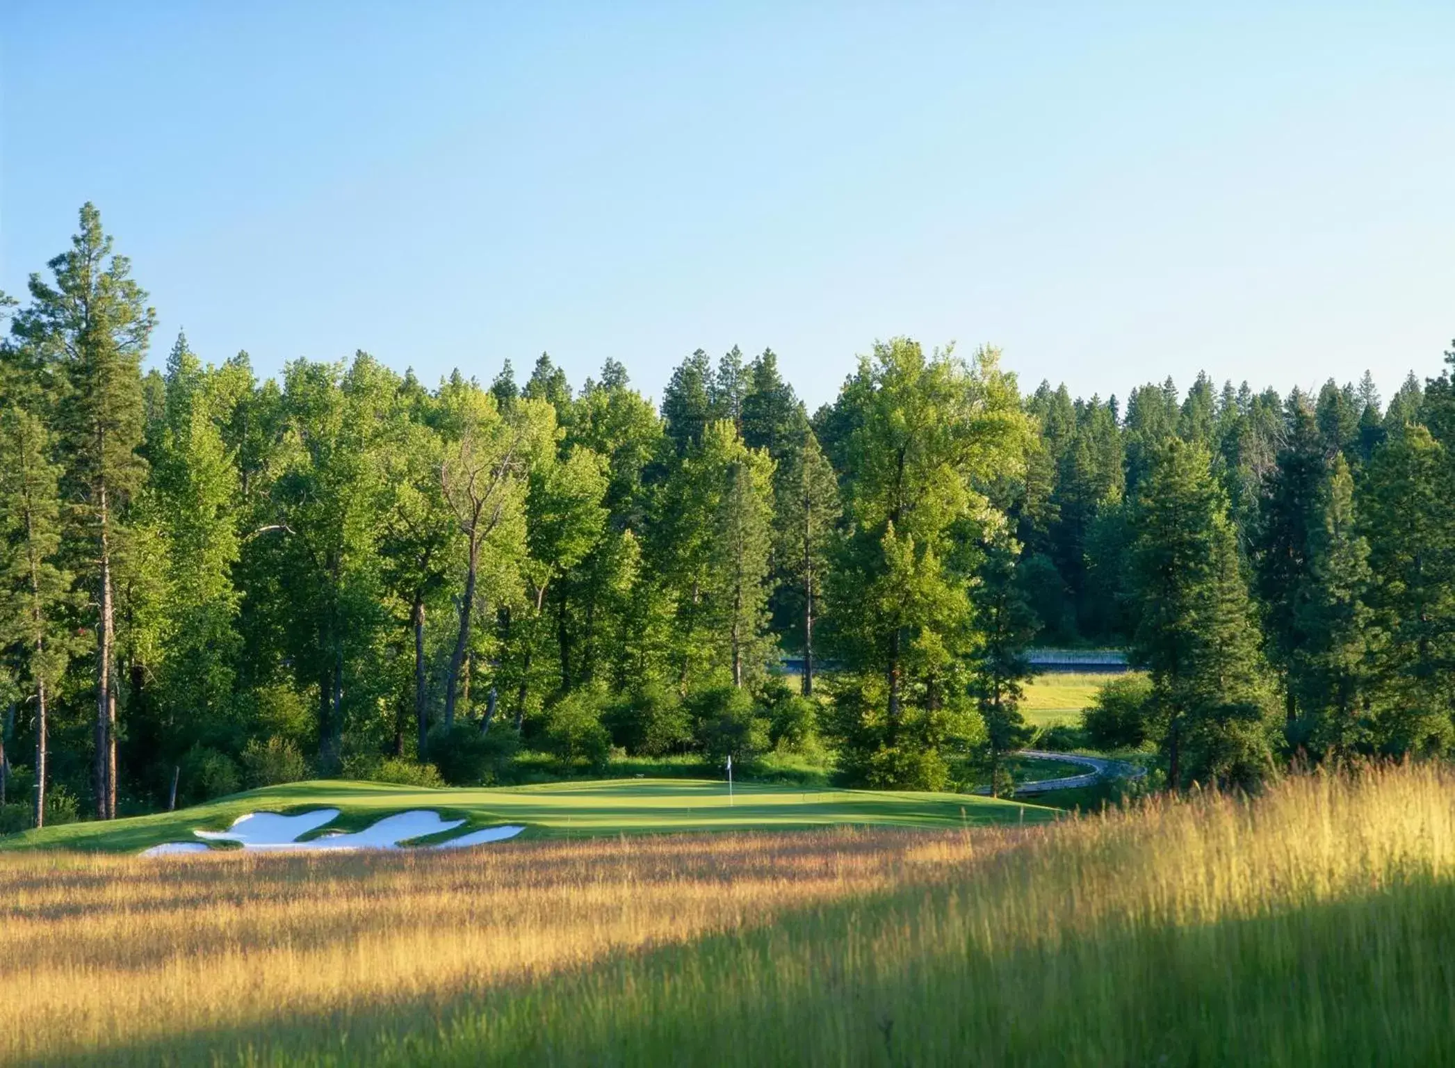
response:
<path id="1" fill-rule="evenodd" d="M 563 838 L 661 831 L 805 829 L 844 824 L 954 828 L 1045 822 L 1055 813 L 1017 802 L 953 793 L 889 793 L 739 784 L 729 806 L 726 783 L 688 778 L 602 780 L 502 789 L 431 790 L 386 783 L 311 781 L 231 794 L 180 812 L 26 831 L 0 850 L 65 848 L 129 853 L 223 829 L 247 812 L 340 809 L 324 828 L 361 829 L 404 809 L 434 809 L 467 824 L 445 837 L 495 824 L 524 824 L 522 838 Z M 322 832 L 322 831 L 320 831 Z"/>

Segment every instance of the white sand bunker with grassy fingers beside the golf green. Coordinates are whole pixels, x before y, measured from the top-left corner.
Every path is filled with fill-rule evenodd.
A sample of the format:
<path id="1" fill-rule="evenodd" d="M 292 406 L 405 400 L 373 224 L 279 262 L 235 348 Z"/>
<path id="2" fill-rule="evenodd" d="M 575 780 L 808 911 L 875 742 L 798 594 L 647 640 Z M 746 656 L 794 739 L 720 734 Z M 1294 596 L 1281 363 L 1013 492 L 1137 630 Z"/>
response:
<path id="1" fill-rule="evenodd" d="M 463 819 L 441 819 L 438 812 L 429 809 L 413 809 L 410 812 L 396 812 L 384 816 L 362 831 L 335 831 L 307 841 L 298 841 L 310 831 L 317 831 L 335 821 L 338 809 L 319 809 L 304 812 L 300 816 L 279 816 L 276 812 L 249 812 L 233 821 L 227 831 L 194 831 L 198 838 L 218 842 L 236 842 L 244 850 L 397 850 L 400 842 L 413 841 L 432 834 L 453 831 L 464 824 Z M 428 848 L 458 850 L 469 845 L 483 845 L 485 842 L 505 841 L 514 838 L 524 826 L 487 826 L 483 831 L 471 831 L 458 838 L 435 842 Z M 175 853 L 207 853 L 205 842 L 163 842 L 141 853 L 143 857 L 163 857 Z"/>

